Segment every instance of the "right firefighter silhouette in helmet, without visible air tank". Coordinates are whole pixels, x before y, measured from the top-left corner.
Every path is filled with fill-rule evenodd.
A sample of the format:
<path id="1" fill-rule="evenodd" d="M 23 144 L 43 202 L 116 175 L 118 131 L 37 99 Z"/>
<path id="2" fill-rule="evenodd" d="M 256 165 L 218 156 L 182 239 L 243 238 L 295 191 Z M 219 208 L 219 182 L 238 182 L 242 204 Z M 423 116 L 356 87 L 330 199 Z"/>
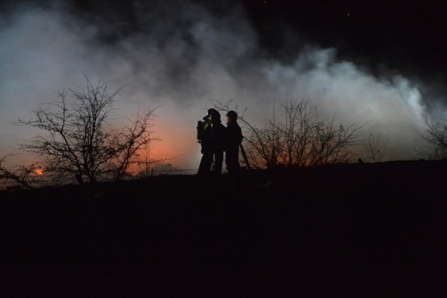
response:
<path id="1" fill-rule="evenodd" d="M 227 124 L 227 140 L 226 140 L 226 153 L 225 163 L 226 169 L 230 174 L 236 174 L 240 172 L 239 165 L 239 147 L 242 142 L 242 130 L 237 124 L 237 114 L 235 111 L 230 111 L 226 114 Z"/>

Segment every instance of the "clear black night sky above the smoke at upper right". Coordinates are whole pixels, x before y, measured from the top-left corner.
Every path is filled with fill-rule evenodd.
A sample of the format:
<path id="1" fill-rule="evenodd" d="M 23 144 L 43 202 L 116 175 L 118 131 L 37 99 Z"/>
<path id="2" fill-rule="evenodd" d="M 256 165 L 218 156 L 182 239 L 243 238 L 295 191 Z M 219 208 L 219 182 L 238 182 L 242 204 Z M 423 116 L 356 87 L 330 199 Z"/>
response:
<path id="1" fill-rule="evenodd" d="M 377 68 L 446 74 L 446 1 L 251 1 L 242 0 L 263 44 L 280 54 L 288 26 L 346 59 Z M 427 70 L 427 73 L 425 73 Z"/>

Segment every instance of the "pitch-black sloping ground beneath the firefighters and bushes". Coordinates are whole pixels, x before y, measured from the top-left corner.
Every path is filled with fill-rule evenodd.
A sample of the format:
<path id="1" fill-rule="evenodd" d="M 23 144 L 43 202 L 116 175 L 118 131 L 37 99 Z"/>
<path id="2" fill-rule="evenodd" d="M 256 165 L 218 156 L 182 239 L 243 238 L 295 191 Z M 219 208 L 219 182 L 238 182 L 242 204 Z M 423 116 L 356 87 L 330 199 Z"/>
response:
<path id="1" fill-rule="evenodd" d="M 445 297 L 447 163 L 0 192 L 1 297 Z M 85 297 L 85 296 L 82 296 Z"/>

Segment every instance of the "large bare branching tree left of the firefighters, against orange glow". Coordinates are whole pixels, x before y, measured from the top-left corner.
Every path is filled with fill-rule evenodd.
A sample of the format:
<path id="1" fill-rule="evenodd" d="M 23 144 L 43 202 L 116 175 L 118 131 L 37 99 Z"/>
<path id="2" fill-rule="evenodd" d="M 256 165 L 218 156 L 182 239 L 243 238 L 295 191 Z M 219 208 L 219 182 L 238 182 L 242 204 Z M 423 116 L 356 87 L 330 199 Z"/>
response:
<path id="1" fill-rule="evenodd" d="M 108 121 L 121 88 L 108 93 L 107 83 L 92 84 L 87 75 L 85 79 L 86 86 L 79 90 L 58 91 L 59 100 L 34 111 L 36 118 L 19 119 L 17 124 L 45 132 L 19 149 L 45 157 L 45 169 L 56 179 L 75 178 L 80 184 L 85 177 L 91 183 L 101 177 L 120 179 L 135 152 L 156 140 L 149 131 L 154 110 L 138 114 L 121 131 L 114 130 Z"/>

